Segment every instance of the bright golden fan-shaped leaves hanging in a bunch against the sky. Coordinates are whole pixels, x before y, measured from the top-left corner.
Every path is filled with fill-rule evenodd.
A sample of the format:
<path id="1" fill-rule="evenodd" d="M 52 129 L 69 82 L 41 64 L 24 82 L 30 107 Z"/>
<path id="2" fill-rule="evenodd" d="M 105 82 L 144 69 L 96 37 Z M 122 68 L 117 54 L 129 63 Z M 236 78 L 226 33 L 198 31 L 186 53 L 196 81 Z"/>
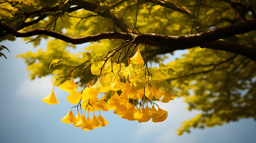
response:
<path id="1" fill-rule="evenodd" d="M 168 92 L 166 88 L 165 92 L 156 89 L 152 80 L 154 77 L 149 78 L 150 74 L 145 76 L 144 61 L 139 50 L 130 59 L 130 64 L 127 67 L 114 62 L 103 62 L 95 61 L 91 64 L 92 74 L 99 75 L 98 81 L 95 84 L 93 84 L 95 80 L 91 81 L 82 91 L 76 91 L 78 86 L 73 80 L 73 75 L 70 82 L 67 80 L 60 85 L 60 89 L 70 94 L 67 96 L 68 102 L 80 104 L 84 110 L 84 113 L 81 113 L 82 115 L 78 112 L 78 115 L 75 116 L 71 108 L 70 112 L 61 119 L 62 122 L 73 123 L 75 127 L 82 127 L 83 130 L 89 131 L 108 124 L 108 121 L 100 115 L 100 111 L 107 112 L 108 110 L 114 110 L 113 112 L 123 119 L 129 121 L 137 120 L 139 123 L 148 122 L 150 119 L 152 119 L 152 122 L 157 123 L 167 119 L 168 112 L 159 108 L 158 105 L 156 110 L 156 103 L 151 101 L 162 98 L 161 102 L 167 103 L 170 100 L 174 100 L 175 96 Z M 139 68 L 136 68 L 134 64 Z M 102 70 L 100 70 L 100 67 Z M 141 75 L 143 75 L 144 80 Z M 158 75 L 156 74 L 156 76 Z M 122 78 L 120 79 L 120 77 Z M 148 79 L 148 81 L 145 79 Z M 139 86 L 139 84 L 143 84 L 143 86 Z M 99 99 L 100 92 L 101 98 Z M 103 96 L 103 93 L 105 96 Z M 105 100 L 108 93 L 111 93 L 111 97 Z M 141 100 L 142 104 L 140 102 L 138 107 L 139 100 Z M 59 103 L 54 92 L 51 92 L 42 101 L 48 104 Z M 151 104 L 151 110 L 148 102 Z M 86 111 L 88 111 L 87 118 L 85 117 Z M 95 111 L 99 111 L 98 117 L 95 116 Z M 89 112 L 93 112 L 91 119 L 89 118 Z"/>

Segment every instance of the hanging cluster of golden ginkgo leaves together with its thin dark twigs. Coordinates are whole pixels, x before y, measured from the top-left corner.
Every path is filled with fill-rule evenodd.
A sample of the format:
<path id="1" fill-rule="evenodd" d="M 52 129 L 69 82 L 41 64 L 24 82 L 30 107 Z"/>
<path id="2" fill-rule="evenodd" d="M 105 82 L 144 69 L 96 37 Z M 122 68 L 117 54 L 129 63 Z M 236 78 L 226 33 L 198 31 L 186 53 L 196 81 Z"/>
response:
<path id="1" fill-rule="evenodd" d="M 136 45 L 134 49 L 135 47 Z M 121 48 L 126 47 L 121 45 L 116 51 Z M 174 100 L 175 96 L 167 91 L 165 80 L 167 75 L 171 75 L 175 70 L 164 64 L 160 64 L 159 68 L 149 68 L 147 64 L 144 67 L 145 62 L 140 53 L 140 47 L 132 58 L 127 56 L 126 66 L 121 62 L 122 58 L 119 58 L 120 63 L 113 62 L 114 53 L 115 51 L 109 57 L 104 58 L 98 57 L 92 51 L 82 54 L 87 60 L 82 63 L 86 65 L 84 69 L 90 67 L 91 74 L 96 77 L 88 84 L 82 83 L 81 80 L 78 81 L 77 84 L 81 82 L 83 89 L 76 91 L 78 86 L 74 82 L 73 71 L 82 65 L 80 64 L 70 72 L 72 73 L 71 80 L 67 78 L 67 81 L 60 85 L 61 90 L 70 94 L 67 96 L 68 102 L 77 104 L 74 107 L 78 109 L 78 114 L 75 116 L 72 112 L 74 107 L 72 107 L 61 119 L 62 122 L 73 123 L 75 127 L 82 127 L 82 130 L 89 131 L 104 127 L 109 123 L 100 115 L 100 111 L 107 112 L 108 110 L 113 110 L 113 113 L 123 119 L 136 120 L 139 123 L 148 122 L 151 119 L 152 122 L 158 123 L 167 119 L 168 112 L 152 101 L 160 100 L 167 103 Z M 57 65 L 58 61 L 60 60 L 53 60 L 51 64 Z M 48 104 L 59 103 L 54 91 L 42 101 Z M 80 113 L 78 106 L 80 106 Z M 95 112 L 98 111 L 99 115 L 96 117 Z M 93 112 L 91 118 L 89 112 Z"/>

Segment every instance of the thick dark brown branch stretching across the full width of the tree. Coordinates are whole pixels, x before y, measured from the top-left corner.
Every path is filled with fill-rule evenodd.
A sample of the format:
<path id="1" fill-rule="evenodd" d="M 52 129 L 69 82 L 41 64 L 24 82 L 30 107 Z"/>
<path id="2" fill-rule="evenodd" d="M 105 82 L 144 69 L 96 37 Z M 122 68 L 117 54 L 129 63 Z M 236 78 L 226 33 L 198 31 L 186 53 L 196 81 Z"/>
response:
<path id="1" fill-rule="evenodd" d="M 224 41 L 216 41 L 225 39 L 237 34 L 243 34 L 249 31 L 256 30 L 256 19 L 248 19 L 231 26 L 215 28 L 206 32 L 188 34 L 185 36 L 168 36 L 156 33 L 120 33 L 120 32 L 104 32 L 86 37 L 74 38 L 56 31 L 47 29 L 37 29 L 32 31 L 20 32 L 0 23 L 1 29 L 8 31 L 15 37 L 30 37 L 34 35 L 47 35 L 60 39 L 72 44 L 82 44 L 91 41 L 102 39 L 123 39 L 132 40 L 134 43 L 145 43 L 151 46 L 162 47 L 161 52 L 167 53 L 170 51 L 189 49 L 191 47 L 200 46 L 214 50 L 222 50 L 234 52 L 244 55 L 247 58 L 256 61 L 256 49 L 245 47 L 242 45 L 228 43 Z M 222 46 L 220 46 L 222 45 Z M 234 47 L 233 47 L 234 46 Z"/>

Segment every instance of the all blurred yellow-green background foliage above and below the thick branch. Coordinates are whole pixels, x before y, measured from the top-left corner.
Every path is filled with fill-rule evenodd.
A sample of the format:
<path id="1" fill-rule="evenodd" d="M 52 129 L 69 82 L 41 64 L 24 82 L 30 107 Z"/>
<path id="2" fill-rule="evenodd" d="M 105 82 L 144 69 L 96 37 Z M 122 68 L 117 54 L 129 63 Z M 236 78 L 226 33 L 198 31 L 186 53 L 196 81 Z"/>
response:
<path id="1" fill-rule="evenodd" d="M 204 31 L 212 27 L 224 27 L 239 22 L 237 10 L 232 8 L 226 2 L 227 0 L 166 0 L 172 2 L 171 5 L 192 11 L 197 19 L 190 19 L 184 13 L 159 5 L 163 0 L 148 1 L 150 0 L 47 0 L 47 2 L 45 0 L 9 0 L 9 2 L 0 0 L 0 22 L 20 31 L 46 28 L 72 37 L 114 31 L 111 14 L 122 18 L 125 24 L 135 32 L 178 36 L 198 33 L 194 22 L 199 22 Z M 255 19 L 256 2 L 254 0 L 241 0 L 239 4 L 248 8 L 247 11 L 245 10 L 246 18 Z M 80 8 L 74 10 L 77 7 Z M 249 9 L 250 7 L 254 9 Z M 241 5 L 238 8 L 242 10 Z M 45 17 L 43 17 L 44 15 Z M 36 21 L 40 17 L 42 19 Z M 28 24 L 29 22 L 33 24 Z M 118 27 L 115 27 L 115 30 L 122 32 Z M 0 35 L 0 41 L 15 40 L 14 36 L 6 35 L 4 31 L 1 31 L 1 34 L 3 35 Z M 76 48 L 75 45 L 50 39 L 45 35 L 38 38 L 28 37 L 24 40 L 32 41 L 34 46 L 37 46 L 42 38 L 48 40 L 46 51 L 39 49 L 35 53 L 28 51 L 18 55 L 27 63 L 27 70 L 31 71 L 31 79 L 49 74 L 54 75 L 54 78 L 68 75 L 73 69 L 71 66 L 91 60 L 91 65 L 83 64 L 73 73 L 73 77 L 76 79 L 85 69 L 82 78 L 82 82 L 85 84 L 89 83 L 92 77 L 100 75 L 99 69 L 104 61 L 98 60 L 124 42 L 114 39 L 101 40 L 89 43 L 83 53 L 69 53 L 67 49 Z M 235 35 L 223 41 L 255 48 L 256 31 Z M 1 46 L 0 50 L 3 48 Z M 147 45 L 146 48 L 147 57 L 145 57 L 145 49 L 141 48 L 140 51 L 142 57 L 145 57 L 148 62 L 160 62 L 165 59 L 164 56 L 159 56 L 159 53 L 163 53 L 161 47 Z M 132 54 L 132 49 L 133 46 L 129 54 Z M 136 47 L 133 50 L 136 51 Z M 110 54 L 113 52 L 111 51 Z M 1 55 L 3 54 L 0 52 Z M 122 59 L 120 68 L 114 65 L 120 62 L 118 56 L 114 56 L 112 60 L 118 62 L 112 66 L 110 59 L 106 64 L 109 64 L 111 68 L 103 70 L 112 72 L 114 69 L 115 74 L 120 69 L 124 71 L 123 69 L 128 66 L 127 56 L 124 52 L 120 53 L 120 57 L 126 58 Z M 48 66 L 52 64 L 58 66 L 49 69 Z M 90 69 L 86 68 L 88 66 Z M 112 67 L 114 68 L 112 69 Z M 201 111 L 199 115 L 183 123 L 183 126 L 178 129 L 179 135 L 184 132 L 189 133 L 191 127 L 200 129 L 214 127 L 238 121 L 241 118 L 256 120 L 255 61 L 234 53 L 195 47 L 189 49 L 189 52 L 181 59 L 172 61 L 166 66 L 160 63 L 158 68 L 148 67 L 147 70 L 146 78 L 152 78 L 150 80 L 154 82 L 156 89 L 164 90 L 163 87 L 166 87 L 175 92 L 176 96 L 185 97 L 185 102 L 189 104 L 189 110 Z M 123 76 L 120 75 L 120 77 Z M 56 85 L 60 85 L 66 80 L 61 78 Z M 168 83 L 163 82 L 165 80 Z M 136 81 L 139 88 L 145 83 L 147 83 L 146 80 Z M 149 84 L 152 86 L 151 83 Z M 111 95 L 109 94 L 106 99 L 110 99 Z"/>

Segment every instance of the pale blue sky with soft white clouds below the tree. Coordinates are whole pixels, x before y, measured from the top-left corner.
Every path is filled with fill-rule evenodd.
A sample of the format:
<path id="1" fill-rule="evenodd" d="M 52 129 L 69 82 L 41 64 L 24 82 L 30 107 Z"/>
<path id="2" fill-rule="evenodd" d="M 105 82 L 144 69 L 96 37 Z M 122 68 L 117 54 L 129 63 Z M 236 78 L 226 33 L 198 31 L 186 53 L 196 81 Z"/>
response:
<path id="1" fill-rule="evenodd" d="M 44 42 L 44 41 L 43 41 Z M 83 131 L 60 121 L 73 104 L 67 101 L 67 92 L 56 87 L 54 92 L 60 104 L 42 102 L 53 88 L 51 77 L 30 81 L 26 64 L 19 53 L 37 51 L 33 45 L 22 39 L 0 42 L 11 53 L 2 51 L 0 57 L 0 143 L 255 143 L 256 122 L 242 119 L 204 130 L 191 129 L 191 133 L 177 136 L 181 123 L 195 116 L 198 111 L 189 112 L 183 98 L 169 103 L 158 103 L 168 111 L 168 118 L 162 123 L 138 123 L 120 118 L 112 111 L 101 112 L 109 121 L 105 127 Z M 45 48 L 43 43 L 39 47 Z M 83 45 L 81 45 L 83 46 Z M 81 47 L 83 48 L 83 47 Z M 186 51 L 176 51 L 167 61 L 179 57 Z M 165 61 L 165 62 L 167 62 Z M 76 115 L 76 110 L 73 110 Z M 96 115 L 97 116 L 97 115 Z"/>

